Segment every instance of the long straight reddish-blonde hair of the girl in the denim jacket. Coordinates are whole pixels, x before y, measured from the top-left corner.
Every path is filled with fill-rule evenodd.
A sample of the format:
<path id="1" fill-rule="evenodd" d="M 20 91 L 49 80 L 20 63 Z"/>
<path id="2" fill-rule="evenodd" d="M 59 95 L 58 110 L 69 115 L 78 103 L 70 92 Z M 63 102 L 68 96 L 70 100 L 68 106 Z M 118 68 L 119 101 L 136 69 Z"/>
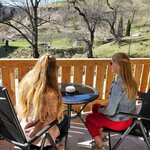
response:
<path id="1" fill-rule="evenodd" d="M 113 62 L 119 66 L 119 75 L 124 83 L 128 100 L 134 100 L 137 95 L 137 84 L 133 78 L 131 62 L 127 54 L 116 53 L 112 56 Z"/>

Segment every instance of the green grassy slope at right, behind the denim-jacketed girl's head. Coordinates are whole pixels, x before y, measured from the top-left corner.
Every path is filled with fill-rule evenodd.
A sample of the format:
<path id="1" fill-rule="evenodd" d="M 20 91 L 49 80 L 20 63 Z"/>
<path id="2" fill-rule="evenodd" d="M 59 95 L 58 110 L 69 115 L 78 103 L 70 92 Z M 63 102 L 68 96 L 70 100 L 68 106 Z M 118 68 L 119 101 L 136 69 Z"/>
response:
<path id="1" fill-rule="evenodd" d="M 138 37 L 125 37 L 129 43 L 123 42 L 119 47 L 114 43 L 107 43 L 94 48 L 94 54 L 97 57 L 111 57 L 116 52 L 130 51 L 131 57 L 146 57 L 150 58 L 150 23 L 143 25 L 143 22 L 138 22 L 132 25 L 132 34 L 141 33 L 142 36 Z"/>

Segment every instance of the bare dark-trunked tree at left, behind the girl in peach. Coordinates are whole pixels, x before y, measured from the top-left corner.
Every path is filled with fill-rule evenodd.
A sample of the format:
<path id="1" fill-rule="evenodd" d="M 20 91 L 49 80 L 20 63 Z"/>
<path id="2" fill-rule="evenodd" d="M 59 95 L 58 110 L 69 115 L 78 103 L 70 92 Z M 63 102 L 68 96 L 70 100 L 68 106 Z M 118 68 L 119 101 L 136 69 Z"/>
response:
<path id="1" fill-rule="evenodd" d="M 27 40 L 32 48 L 32 56 L 39 57 L 38 28 L 49 22 L 51 13 L 40 6 L 42 0 L 5 0 L 3 3 L 12 8 L 8 13 L 3 8 L 0 23 L 15 29 Z M 40 6 L 40 7 L 39 7 Z M 47 11 L 46 11 L 47 10 Z M 44 11 L 44 13 L 42 13 Z M 11 20 L 10 20 L 11 17 Z"/>

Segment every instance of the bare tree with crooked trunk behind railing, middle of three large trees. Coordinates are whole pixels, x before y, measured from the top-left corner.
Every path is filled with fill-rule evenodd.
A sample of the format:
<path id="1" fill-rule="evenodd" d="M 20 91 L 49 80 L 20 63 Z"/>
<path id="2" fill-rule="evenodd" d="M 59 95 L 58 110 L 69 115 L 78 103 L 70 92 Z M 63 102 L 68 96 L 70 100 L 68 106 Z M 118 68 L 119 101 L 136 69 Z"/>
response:
<path id="1" fill-rule="evenodd" d="M 101 3 L 99 0 L 67 0 L 70 13 L 79 15 L 78 22 L 80 24 L 80 40 L 84 41 L 87 46 L 87 57 L 93 57 L 93 44 L 95 39 L 95 31 L 101 22 Z M 76 34 L 77 35 L 77 34 Z"/>

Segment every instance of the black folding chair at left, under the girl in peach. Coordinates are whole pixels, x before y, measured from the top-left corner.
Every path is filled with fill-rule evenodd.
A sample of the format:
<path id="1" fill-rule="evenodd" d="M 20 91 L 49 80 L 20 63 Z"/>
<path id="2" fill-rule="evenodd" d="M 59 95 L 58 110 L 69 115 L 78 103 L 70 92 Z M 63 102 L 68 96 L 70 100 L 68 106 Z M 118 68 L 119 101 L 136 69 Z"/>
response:
<path id="1" fill-rule="evenodd" d="M 51 143 L 50 149 L 57 150 L 58 148 L 48 132 L 48 130 L 56 125 L 57 122 L 57 120 L 54 120 L 48 126 L 39 131 L 33 138 L 27 141 L 11 103 L 7 89 L 0 87 L 0 137 L 3 139 L 13 143 L 23 150 L 36 150 L 36 146 L 33 145 L 33 142 L 40 136 L 44 135 L 39 149 L 44 149 L 45 140 L 48 139 Z"/>

